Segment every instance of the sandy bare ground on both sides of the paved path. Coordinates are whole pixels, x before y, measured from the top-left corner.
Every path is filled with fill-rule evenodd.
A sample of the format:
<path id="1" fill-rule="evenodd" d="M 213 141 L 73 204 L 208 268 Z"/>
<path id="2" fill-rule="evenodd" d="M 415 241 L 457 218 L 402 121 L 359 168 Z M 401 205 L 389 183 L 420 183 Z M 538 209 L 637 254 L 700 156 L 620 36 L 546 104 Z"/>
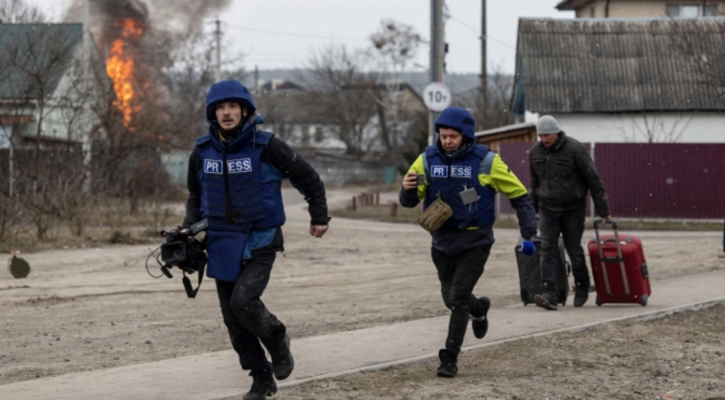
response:
<path id="1" fill-rule="evenodd" d="M 331 190 L 330 203 L 343 207 L 350 196 Z M 419 227 L 334 219 L 327 236 L 313 239 L 302 204 L 288 210 L 286 251 L 263 300 L 293 338 L 447 314 Z M 722 233 L 631 233 L 644 243 L 654 287 L 725 267 Z M 498 229 L 496 238 L 476 293 L 494 307 L 520 304 L 518 232 Z M 23 254 L 28 278 L 0 270 L 0 385 L 229 349 L 213 281 L 187 299 L 178 270 L 171 280 L 147 274 L 148 252 L 43 251 Z M 723 308 L 464 353 L 454 380 L 421 362 L 284 388 L 276 398 L 725 399 Z"/>

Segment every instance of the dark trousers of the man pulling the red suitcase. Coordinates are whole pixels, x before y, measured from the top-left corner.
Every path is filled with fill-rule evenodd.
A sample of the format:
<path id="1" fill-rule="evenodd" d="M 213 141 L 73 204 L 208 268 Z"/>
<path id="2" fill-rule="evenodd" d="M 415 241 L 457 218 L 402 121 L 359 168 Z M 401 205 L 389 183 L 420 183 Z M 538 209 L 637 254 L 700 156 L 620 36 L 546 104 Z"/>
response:
<path id="1" fill-rule="evenodd" d="M 550 211 L 539 210 L 539 233 L 541 234 L 541 283 L 544 290 L 556 287 L 555 268 L 559 253 L 559 235 L 564 238 L 564 247 L 569 260 L 574 283 L 589 287 L 589 270 L 584 258 L 581 241 L 584 234 L 585 210 Z"/>

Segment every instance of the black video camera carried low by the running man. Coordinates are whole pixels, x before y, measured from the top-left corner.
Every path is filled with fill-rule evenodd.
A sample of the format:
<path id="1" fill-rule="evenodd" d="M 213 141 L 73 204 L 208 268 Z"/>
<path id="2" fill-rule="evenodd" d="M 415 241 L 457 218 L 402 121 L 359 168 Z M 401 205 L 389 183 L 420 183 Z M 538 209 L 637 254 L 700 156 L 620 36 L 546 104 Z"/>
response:
<path id="1" fill-rule="evenodd" d="M 196 240 L 189 243 L 188 238 L 194 236 L 201 231 L 209 228 L 209 222 L 203 219 L 189 230 L 172 229 L 170 231 L 161 231 L 161 236 L 166 238 L 166 242 L 161 245 L 161 260 L 164 265 L 161 266 L 161 272 L 169 278 L 172 278 L 169 269 L 177 267 L 188 274 L 193 274 L 199 270 L 203 270 L 206 266 L 206 246 L 204 243 Z"/>

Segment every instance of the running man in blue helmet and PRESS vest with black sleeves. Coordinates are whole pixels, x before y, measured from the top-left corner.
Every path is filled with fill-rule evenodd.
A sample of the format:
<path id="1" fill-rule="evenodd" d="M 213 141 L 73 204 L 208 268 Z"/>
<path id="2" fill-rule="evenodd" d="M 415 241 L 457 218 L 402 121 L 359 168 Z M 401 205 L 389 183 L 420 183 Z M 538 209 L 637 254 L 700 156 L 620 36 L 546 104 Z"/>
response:
<path id="1" fill-rule="evenodd" d="M 254 380 L 244 400 L 263 400 L 277 391 L 275 378 L 287 378 L 294 368 L 287 329 L 260 299 L 276 252 L 284 250 L 281 181 L 289 178 L 305 195 L 310 235 L 316 238 L 325 234 L 330 220 L 325 187 L 299 154 L 257 129 L 262 117 L 241 83 L 212 85 L 206 118 L 209 132 L 196 140 L 189 158 L 182 227 L 209 221 L 207 275 L 216 280 L 232 347 Z"/>

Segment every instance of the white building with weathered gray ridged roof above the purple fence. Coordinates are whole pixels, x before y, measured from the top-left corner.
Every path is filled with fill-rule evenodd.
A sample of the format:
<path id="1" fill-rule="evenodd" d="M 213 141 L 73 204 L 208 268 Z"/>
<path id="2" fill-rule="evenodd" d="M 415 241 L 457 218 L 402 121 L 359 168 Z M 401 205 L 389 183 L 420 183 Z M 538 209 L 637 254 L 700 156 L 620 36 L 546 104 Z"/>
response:
<path id="1" fill-rule="evenodd" d="M 725 142 L 725 19 L 522 19 L 511 109 L 582 142 Z"/>

